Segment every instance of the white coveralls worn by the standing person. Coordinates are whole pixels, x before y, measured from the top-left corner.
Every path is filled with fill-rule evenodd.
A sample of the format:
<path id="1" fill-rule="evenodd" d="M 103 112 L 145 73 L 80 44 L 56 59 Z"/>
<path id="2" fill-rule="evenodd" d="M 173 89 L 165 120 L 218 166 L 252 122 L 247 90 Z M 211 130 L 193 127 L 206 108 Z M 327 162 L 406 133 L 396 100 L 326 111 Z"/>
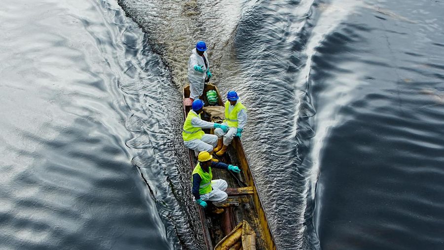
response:
<path id="1" fill-rule="evenodd" d="M 193 49 L 188 60 L 188 81 L 189 81 L 189 97 L 193 100 L 199 99 L 202 95 L 207 71 L 210 69 L 210 62 L 208 61 L 207 52 L 204 52 L 204 57 L 207 60 L 207 65 L 199 54 L 196 48 Z M 194 70 L 194 65 L 202 66 L 203 73 Z M 207 67 L 208 66 L 208 67 Z"/>

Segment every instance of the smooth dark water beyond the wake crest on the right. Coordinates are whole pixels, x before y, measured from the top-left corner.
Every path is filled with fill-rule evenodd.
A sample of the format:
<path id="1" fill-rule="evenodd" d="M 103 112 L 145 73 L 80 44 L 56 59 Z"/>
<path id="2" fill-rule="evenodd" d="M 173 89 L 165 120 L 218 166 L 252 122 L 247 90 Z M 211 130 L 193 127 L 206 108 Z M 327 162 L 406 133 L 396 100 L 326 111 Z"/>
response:
<path id="1" fill-rule="evenodd" d="M 322 249 L 444 249 L 444 3 L 373 4 L 313 60 L 317 110 L 341 104 L 316 115 L 315 228 Z"/>

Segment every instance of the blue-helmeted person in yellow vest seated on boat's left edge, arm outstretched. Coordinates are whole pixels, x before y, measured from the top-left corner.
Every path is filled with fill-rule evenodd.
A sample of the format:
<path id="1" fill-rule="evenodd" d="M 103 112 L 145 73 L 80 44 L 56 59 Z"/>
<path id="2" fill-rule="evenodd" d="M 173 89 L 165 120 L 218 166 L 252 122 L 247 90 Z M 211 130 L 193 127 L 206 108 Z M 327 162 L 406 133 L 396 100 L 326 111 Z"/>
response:
<path id="1" fill-rule="evenodd" d="M 200 99 L 194 100 L 188 114 L 186 115 L 182 138 L 185 146 L 198 152 L 207 151 L 213 154 L 213 149 L 218 142 L 218 137 L 208 135 L 202 131 L 202 128 L 220 128 L 222 131 L 228 131 L 226 125 L 204 121 L 200 118 L 200 113 L 204 107 L 204 102 Z M 217 161 L 216 159 L 213 159 Z"/>

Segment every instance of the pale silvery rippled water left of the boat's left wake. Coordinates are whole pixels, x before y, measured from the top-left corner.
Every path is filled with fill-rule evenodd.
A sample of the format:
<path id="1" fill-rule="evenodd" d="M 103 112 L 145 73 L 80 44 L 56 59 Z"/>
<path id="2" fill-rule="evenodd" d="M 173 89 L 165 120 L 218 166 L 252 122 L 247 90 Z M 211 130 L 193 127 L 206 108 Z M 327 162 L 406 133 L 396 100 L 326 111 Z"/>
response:
<path id="1" fill-rule="evenodd" d="M 118 86 L 167 81 L 166 69 L 123 14 L 104 1 L 2 2 L 1 249 L 177 244 L 131 164 Z"/>

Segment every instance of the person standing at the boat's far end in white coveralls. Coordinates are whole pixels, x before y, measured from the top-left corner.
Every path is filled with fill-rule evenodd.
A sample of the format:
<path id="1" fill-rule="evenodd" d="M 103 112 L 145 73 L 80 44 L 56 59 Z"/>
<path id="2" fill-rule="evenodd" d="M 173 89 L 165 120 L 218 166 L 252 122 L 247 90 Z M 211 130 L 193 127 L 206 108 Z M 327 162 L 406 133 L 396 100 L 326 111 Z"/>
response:
<path id="1" fill-rule="evenodd" d="M 213 74 L 210 72 L 208 62 L 207 45 L 204 41 L 198 41 L 192 50 L 188 60 L 189 97 L 193 100 L 199 99 L 203 94 L 204 84 L 208 82 Z"/>

